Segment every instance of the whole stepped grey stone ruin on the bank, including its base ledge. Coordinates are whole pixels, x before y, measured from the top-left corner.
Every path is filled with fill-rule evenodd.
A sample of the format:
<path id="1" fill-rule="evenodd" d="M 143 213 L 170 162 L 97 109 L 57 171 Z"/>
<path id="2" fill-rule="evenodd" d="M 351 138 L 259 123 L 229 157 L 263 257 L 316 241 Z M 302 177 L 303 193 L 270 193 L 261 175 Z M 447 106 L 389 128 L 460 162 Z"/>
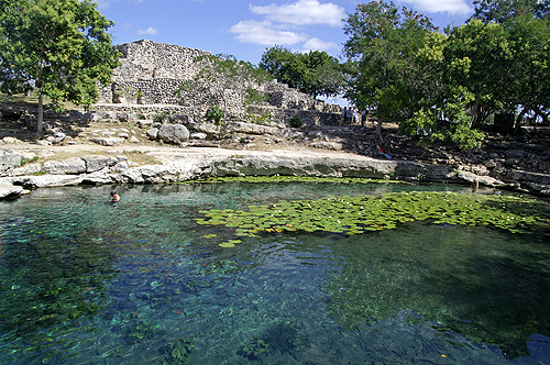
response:
<path id="1" fill-rule="evenodd" d="M 176 91 L 200 70 L 198 56 L 211 55 L 200 49 L 142 40 L 116 46 L 122 54 L 122 65 L 113 73 L 113 82 L 100 88 L 96 111 L 133 113 L 178 113 L 201 118 L 213 107 L 223 108 L 221 82 L 211 82 L 194 95 Z M 220 76 L 221 77 L 221 76 Z M 221 80 L 220 80 L 221 81 Z M 245 88 L 266 95 L 266 101 L 245 106 Z M 268 115 L 274 122 L 287 122 L 298 114 L 307 124 L 336 125 L 340 107 L 316 100 L 310 96 L 271 80 L 261 85 L 232 85 L 224 90 L 228 115 L 248 120 Z"/>

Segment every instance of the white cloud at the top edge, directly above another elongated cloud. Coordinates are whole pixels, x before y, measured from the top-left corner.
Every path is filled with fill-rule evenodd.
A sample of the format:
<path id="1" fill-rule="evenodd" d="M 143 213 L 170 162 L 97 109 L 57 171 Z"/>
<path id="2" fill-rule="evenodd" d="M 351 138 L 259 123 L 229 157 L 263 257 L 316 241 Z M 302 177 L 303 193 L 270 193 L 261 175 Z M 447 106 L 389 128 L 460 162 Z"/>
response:
<path id="1" fill-rule="evenodd" d="M 250 5 L 254 14 L 265 15 L 267 20 L 294 25 L 324 24 L 341 26 L 345 11 L 332 2 L 320 3 L 317 0 L 298 0 L 295 3 L 266 7 Z"/>

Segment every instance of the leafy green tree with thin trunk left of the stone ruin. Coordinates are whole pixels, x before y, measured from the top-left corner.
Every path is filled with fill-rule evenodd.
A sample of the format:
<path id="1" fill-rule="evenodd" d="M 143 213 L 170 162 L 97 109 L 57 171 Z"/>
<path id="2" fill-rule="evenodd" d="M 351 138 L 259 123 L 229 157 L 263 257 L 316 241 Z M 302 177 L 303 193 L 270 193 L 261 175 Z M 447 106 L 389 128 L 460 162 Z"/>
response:
<path id="1" fill-rule="evenodd" d="M 98 81 L 110 82 L 120 56 L 107 32 L 113 23 L 91 0 L 0 3 L 0 89 L 37 90 L 42 135 L 44 96 L 57 108 L 62 101 L 89 106 L 98 97 Z"/>

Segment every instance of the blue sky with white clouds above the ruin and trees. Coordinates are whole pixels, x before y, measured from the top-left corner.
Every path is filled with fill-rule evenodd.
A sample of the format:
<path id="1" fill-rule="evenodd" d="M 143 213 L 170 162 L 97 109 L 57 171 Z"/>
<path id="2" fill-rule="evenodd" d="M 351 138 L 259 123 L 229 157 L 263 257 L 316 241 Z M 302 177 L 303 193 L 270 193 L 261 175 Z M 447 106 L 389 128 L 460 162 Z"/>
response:
<path id="1" fill-rule="evenodd" d="M 366 0 L 364 2 L 369 2 Z M 436 25 L 460 25 L 472 0 L 394 0 L 430 16 Z M 321 49 L 340 56 L 346 41 L 342 19 L 354 0 L 99 0 L 112 20 L 114 44 L 152 40 L 231 54 L 257 64 L 266 47 Z"/>

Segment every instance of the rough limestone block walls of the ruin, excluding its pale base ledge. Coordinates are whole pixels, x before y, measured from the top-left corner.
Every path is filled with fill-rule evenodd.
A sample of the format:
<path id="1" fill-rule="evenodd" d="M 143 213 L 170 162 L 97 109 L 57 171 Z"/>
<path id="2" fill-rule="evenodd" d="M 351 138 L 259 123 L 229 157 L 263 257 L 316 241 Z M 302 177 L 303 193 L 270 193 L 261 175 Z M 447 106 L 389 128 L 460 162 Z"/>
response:
<path id="1" fill-rule="evenodd" d="M 321 113 L 340 113 L 340 107 L 315 100 L 310 96 L 289 88 L 287 85 L 272 80 L 263 85 L 234 85 L 231 80 L 213 80 L 199 90 L 176 91 L 187 80 L 191 80 L 200 70 L 197 56 L 211 55 L 200 49 L 187 48 L 153 41 L 138 41 L 117 46 L 122 54 L 122 65 L 114 69 L 113 84 L 100 88 L 100 103 L 131 104 L 180 104 L 194 114 L 204 113 L 208 108 L 224 104 L 229 115 L 245 115 L 245 89 L 251 87 L 266 92 L 270 101 L 265 106 L 276 109 L 294 110 L 294 112 L 274 111 L 274 114 L 286 115 L 296 110 Z"/>

